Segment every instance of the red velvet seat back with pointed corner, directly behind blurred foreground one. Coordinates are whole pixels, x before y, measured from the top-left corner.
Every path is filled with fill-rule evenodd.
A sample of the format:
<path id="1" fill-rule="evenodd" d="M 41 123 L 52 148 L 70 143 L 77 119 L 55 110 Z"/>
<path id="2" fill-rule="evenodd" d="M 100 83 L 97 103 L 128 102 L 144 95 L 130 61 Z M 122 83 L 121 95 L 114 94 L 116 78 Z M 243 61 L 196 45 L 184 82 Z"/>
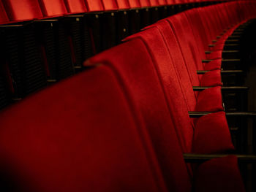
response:
<path id="1" fill-rule="evenodd" d="M 118 74 L 121 85 L 143 116 L 167 188 L 188 191 L 190 183 L 181 158 L 181 142 L 176 137 L 165 93 L 143 41 L 132 39 L 124 42 L 90 58 L 85 64 L 105 64 Z"/>

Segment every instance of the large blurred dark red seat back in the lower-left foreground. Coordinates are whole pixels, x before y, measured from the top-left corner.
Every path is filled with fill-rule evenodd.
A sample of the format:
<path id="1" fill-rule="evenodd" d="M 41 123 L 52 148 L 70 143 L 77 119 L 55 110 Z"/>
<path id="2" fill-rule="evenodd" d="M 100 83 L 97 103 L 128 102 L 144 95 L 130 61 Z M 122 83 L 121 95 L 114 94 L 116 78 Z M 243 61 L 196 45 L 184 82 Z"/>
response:
<path id="1" fill-rule="evenodd" d="M 2 111 L 1 173 L 19 191 L 165 192 L 126 98 L 113 72 L 99 66 Z"/>

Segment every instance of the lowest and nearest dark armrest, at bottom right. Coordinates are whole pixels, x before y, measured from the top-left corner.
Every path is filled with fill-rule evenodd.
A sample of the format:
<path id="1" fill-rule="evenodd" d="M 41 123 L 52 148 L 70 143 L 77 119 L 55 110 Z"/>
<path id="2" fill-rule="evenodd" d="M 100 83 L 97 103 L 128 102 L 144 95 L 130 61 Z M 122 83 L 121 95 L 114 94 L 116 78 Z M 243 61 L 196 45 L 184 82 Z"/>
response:
<path id="1" fill-rule="evenodd" d="M 238 155 L 238 154 L 192 154 L 184 153 L 183 158 L 186 163 L 203 163 L 212 158 L 222 158 L 227 155 L 236 155 L 238 161 L 241 163 L 256 163 L 256 155 Z"/>

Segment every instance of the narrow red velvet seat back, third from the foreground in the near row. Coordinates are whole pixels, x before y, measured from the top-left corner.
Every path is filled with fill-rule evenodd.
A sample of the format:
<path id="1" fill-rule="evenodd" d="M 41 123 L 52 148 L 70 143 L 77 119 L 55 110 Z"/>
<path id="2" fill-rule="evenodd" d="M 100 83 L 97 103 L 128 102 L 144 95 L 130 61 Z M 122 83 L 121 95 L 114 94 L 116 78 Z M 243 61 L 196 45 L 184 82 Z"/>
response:
<path id="1" fill-rule="evenodd" d="M 181 146 L 184 151 L 190 151 L 193 125 L 189 118 L 188 111 L 195 110 L 195 93 L 192 91 L 192 87 L 190 87 L 190 89 L 189 87 L 184 88 L 184 91 L 187 92 L 182 90 L 182 81 L 178 77 L 165 41 L 162 39 L 157 28 L 149 28 L 128 39 L 134 38 L 143 39 L 148 53 L 151 55 L 154 68 L 157 71 L 165 96 L 167 97 L 167 104 L 178 138 L 181 139 Z"/>

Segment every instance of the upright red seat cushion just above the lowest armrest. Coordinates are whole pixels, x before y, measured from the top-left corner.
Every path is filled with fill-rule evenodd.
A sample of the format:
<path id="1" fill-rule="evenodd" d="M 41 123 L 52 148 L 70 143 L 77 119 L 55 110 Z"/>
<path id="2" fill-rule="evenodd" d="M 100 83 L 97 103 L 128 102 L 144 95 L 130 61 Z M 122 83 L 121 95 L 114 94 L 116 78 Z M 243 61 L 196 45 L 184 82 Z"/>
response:
<path id="1" fill-rule="evenodd" d="M 225 112 L 199 118 L 195 124 L 192 153 L 225 153 L 234 150 Z"/>

